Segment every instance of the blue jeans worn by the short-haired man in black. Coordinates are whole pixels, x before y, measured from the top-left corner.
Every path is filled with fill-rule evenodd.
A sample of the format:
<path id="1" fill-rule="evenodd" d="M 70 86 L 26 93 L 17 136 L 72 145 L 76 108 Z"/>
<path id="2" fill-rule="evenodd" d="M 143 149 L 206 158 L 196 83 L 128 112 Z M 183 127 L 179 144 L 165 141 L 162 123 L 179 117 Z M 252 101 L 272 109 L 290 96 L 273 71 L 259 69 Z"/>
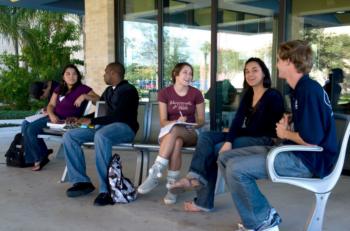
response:
<path id="1" fill-rule="evenodd" d="M 98 129 L 76 128 L 67 131 L 63 135 L 63 147 L 69 181 L 73 184 L 91 182 L 86 175 L 85 156 L 81 145 L 94 141 L 99 191 L 108 192 L 107 168 L 112 158 L 112 146 L 132 142 L 134 137 L 134 131 L 127 124 L 119 122 L 100 126 Z"/>

